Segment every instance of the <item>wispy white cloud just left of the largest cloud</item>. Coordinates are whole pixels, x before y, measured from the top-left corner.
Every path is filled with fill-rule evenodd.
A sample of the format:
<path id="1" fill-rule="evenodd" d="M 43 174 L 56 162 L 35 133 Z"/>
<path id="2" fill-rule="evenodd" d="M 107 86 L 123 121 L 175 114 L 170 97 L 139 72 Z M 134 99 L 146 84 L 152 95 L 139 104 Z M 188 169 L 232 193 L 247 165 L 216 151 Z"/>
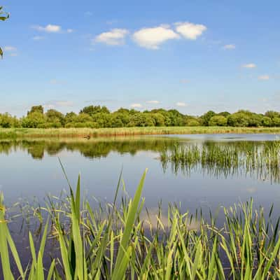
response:
<path id="1" fill-rule="evenodd" d="M 94 41 L 97 43 L 105 43 L 106 45 L 123 45 L 125 43 L 125 36 L 129 31 L 127 29 L 111 29 L 108 32 L 97 35 Z"/>

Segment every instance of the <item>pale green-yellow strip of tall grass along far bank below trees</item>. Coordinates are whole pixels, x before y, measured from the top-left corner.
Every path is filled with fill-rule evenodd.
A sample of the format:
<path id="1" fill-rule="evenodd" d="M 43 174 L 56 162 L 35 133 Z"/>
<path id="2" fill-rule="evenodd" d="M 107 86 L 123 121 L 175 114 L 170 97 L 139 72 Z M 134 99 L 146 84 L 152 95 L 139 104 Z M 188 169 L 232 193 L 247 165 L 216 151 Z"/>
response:
<path id="1" fill-rule="evenodd" d="M 280 133 L 280 127 L 119 127 L 119 128 L 0 128 L 0 139 L 25 137 L 107 137 L 153 134 Z"/>

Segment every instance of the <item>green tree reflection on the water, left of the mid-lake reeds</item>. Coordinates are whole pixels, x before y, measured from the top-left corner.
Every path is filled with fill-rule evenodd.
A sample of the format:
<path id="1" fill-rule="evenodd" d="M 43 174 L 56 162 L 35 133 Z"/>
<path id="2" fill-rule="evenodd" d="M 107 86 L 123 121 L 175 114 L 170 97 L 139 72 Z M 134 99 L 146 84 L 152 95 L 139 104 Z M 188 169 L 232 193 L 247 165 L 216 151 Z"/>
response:
<path id="1" fill-rule="evenodd" d="M 78 151 L 85 158 L 106 158 L 109 153 L 120 155 L 129 153 L 135 155 L 138 151 L 160 152 L 165 148 L 172 148 L 176 139 L 167 138 L 118 138 L 118 139 L 66 139 L 55 141 L 52 139 L 0 141 L 0 153 L 8 155 L 13 151 L 27 151 L 32 158 L 42 160 L 47 155 L 57 155 L 62 151 Z"/>

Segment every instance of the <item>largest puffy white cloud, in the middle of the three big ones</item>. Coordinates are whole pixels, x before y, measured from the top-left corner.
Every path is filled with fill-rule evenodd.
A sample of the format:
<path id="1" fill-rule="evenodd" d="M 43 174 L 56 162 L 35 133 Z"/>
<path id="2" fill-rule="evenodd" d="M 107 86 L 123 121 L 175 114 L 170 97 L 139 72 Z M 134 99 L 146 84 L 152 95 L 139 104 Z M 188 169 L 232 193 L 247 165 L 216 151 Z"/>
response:
<path id="1" fill-rule="evenodd" d="M 159 45 L 165 41 L 180 38 L 168 25 L 142 28 L 133 34 L 134 41 L 144 48 L 158 50 Z"/>

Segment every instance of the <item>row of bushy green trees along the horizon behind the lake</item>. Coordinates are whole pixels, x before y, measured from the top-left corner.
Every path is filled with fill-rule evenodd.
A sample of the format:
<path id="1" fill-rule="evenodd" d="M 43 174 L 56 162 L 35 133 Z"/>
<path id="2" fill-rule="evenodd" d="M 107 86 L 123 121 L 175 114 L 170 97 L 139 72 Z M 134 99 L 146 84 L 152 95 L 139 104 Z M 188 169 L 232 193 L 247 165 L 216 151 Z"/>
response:
<path id="1" fill-rule="evenodd" d="M 189 116 L 175 109 L 137 111 L 120 108 L 110 112 L 106 106 L 85 106 L 79 113 L 61 113 L 55 109 L 44 111 L 43 106 L 32 106 L 22 118 L 0 113 L 0 127 L 170 127 L 170 126 L 230 126 L 280 127 L 280 113 L 267 111 L 253 113 L 239 110 L 235 113 L 208 111 L 202 116 Z"/>

